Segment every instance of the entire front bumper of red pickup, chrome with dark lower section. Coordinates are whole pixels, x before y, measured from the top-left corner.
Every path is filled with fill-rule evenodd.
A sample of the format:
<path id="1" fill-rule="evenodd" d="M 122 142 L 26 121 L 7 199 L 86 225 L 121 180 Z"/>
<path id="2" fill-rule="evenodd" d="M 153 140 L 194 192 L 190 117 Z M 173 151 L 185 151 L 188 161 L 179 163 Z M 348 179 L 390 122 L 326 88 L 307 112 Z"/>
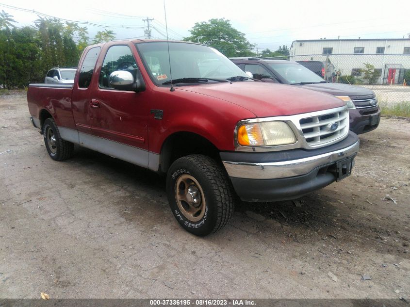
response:
<path id="1" fill-rule="evenodd" d="M 223 164 L 236 193 L 245 201 L 295 199 L 336 180 L 336 162 L 355 156 L 359 138 L 313 150 L 222 152 Z"/>

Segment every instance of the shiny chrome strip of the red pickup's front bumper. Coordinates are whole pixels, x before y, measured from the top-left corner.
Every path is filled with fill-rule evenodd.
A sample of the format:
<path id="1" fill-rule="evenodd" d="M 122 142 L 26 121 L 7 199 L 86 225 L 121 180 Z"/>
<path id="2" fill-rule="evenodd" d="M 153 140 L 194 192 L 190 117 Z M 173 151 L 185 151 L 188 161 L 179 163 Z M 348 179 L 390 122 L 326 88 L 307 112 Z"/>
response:
<path id="1" fill-rule="evenodd" d="M 297 160 L 264 163 L 223 161 L 223 163 L 228 175 L 234 178 L 289 178 L 308 174 L 317 167 L 350 157 L 358 152 L 359 143 L 360 141 L 358 140 L 353 145 L 339 150 Z"/>

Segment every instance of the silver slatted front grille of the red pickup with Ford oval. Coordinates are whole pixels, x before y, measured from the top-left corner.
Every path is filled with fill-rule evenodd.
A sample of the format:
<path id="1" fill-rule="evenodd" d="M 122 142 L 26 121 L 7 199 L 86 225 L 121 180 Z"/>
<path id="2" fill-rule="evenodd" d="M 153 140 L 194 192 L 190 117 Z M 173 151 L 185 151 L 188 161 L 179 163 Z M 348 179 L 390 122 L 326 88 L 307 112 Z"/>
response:
<path id="1" fill-rule="evenodd" d="M 324 112 L 322 115 L 302 118 L 299 123 L 303 136 L 309 145 L 322 145 L 343 138 L 348 133 L 349 111 Z M 337 124 L 337 128 L 331 130 L 330 126 L 334 123 Z"/>

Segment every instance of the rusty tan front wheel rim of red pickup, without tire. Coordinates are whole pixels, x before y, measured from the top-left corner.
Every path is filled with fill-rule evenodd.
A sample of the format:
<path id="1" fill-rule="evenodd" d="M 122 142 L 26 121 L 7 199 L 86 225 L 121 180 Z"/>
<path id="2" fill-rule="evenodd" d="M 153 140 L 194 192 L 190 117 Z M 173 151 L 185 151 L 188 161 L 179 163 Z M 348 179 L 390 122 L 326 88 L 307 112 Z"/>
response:
<path id="1" fill-rule="evenodd" d="M 191 222 L 198 222 L 203 218 L 206 200 L 201 185 L 191 175 L 183 174 L 178 177 L 175 200 L 181 213 Z"/>

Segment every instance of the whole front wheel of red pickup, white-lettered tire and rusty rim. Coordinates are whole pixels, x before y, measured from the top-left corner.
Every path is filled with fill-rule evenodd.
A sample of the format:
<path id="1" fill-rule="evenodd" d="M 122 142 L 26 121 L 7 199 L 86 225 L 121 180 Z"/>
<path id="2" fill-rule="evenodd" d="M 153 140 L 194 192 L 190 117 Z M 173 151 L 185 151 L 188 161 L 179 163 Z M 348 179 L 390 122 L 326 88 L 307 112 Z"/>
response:
<path id="1" fill-rule="evenodd" d="M 197 236 L 221 229 L 234 209 L 227 175 L 207 156 L 189 155 L 172 163 L 166 191 L 175 218 Z"/>

